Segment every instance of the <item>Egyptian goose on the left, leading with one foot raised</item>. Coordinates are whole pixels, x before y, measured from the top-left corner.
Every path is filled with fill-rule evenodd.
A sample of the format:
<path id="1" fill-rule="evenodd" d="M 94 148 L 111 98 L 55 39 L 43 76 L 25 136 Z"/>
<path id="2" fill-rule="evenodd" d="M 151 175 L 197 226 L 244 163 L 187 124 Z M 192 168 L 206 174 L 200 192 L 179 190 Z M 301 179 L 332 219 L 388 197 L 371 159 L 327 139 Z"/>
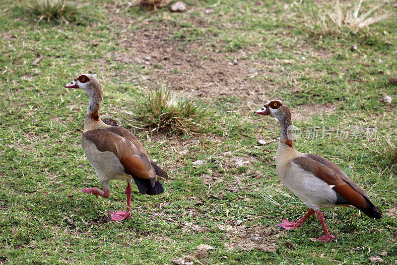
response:
<path id="1" fill-rule="evenodd" d="M 90 97 L 84 119 L 81 146 L 85 156 L 94 167 L 104 191 L 97 188 L 84 188 L 84 193 L 109 198 L 109 180 L 127 180 L 127 211 L 111 212 L 111 220 L 120 221 L 130 218 L 131 183 L 134 179 L 142 194 L 160 194 L 164 189 L 157 176 L 167 178 L 167 173 L 152 163 L 138 139 L 126 128 L 105 124 L 98 114 L 103 91 L 96 77 L 83 74 L 65 85 L 65 88 L 81 88 Z"/>

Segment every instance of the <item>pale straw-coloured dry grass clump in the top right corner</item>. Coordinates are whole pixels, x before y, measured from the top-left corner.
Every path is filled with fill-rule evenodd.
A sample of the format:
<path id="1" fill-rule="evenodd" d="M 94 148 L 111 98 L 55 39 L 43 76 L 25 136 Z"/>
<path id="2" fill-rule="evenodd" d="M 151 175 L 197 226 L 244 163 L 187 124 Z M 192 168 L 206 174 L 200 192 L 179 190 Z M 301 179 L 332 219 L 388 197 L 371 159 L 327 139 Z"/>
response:
<path id="1" fill-rule="evenodd" d="M 321 6 L 321 10 L 311 10 L 309 17 L 306 17 L 306 24 L 311 31 L 317 35 L 328 35 L 340 33 L 342 28 L 347 27 L 353 33 L 357 33 L 363 28 L 386 20 L 390 14 L 374 14 L 381 4 L 377 4 L 366 12 L 360 13 L 363 0 L 359 0 L 352 10 L 347 10 L 339 1 L 333 7 Z"/>

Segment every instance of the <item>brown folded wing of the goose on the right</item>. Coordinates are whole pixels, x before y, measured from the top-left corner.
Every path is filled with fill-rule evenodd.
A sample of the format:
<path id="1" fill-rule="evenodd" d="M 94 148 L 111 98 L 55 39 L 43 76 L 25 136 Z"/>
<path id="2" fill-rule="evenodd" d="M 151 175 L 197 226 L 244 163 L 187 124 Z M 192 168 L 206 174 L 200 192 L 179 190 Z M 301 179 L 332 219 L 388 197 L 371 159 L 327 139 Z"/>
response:
<path id="1" fill-rule="evenodd" d="M 370 200 L 365 191 L 331 161 L 317 155 L 305 154 L 294 158 L 292 162 L 323 179 L 327 184 L 333 185 L 333 190 L 348 204 L 363 208 L 370 206 Z"/>

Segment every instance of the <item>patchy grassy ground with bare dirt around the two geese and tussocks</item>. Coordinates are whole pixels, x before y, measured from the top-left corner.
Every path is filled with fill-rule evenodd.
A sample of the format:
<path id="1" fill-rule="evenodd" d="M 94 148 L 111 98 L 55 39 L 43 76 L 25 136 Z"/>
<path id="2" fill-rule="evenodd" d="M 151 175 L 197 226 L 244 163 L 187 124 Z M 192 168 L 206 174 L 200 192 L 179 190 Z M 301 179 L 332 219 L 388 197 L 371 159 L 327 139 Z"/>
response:
<path id="1" fill-rule="evenodd" d="M 396 165 L 374 155 L 376 140 L 354 137 L 376 127 L 377 138 L 396 139 L 395 1 L 375 11 L 389 19 L 332 34 L 311 22 L 323 12 L 317 1 L 188 0 L 184 13 L 127 2 L 82 1 L 73 23 L 59 23 L 23 1 L 0 1 L 0 264 L 362 264 L 376 256 L 395 264 Z M 86 72 L 104 88 L 101 117 L 131 129 L 170 176 L 161 195 L 133 187 L 126 221 L 108 214 L 126 207 L 124 181 L 111 182 L 109 199 L 80 191 L 102 188 L 80 145 L 88 96 L 64 88 Z M 157 83 L 207 104 L 210 130 L 135 130 L 132 102 Z M 317 218 L 295 231 L 275 226 L 307 207 L 276 176 L 278 123 L 252 113 L 272 98 L 293 109 L 303 131 L 295 148 L 337 164 L 383 219 L 324 209 L 337 239 L 328 244 L 309 239 L 323 235 Z M 317 139 L 307 137 L 314 127 Z M 331 138 L 322 128 L 333 128 Z"/>

